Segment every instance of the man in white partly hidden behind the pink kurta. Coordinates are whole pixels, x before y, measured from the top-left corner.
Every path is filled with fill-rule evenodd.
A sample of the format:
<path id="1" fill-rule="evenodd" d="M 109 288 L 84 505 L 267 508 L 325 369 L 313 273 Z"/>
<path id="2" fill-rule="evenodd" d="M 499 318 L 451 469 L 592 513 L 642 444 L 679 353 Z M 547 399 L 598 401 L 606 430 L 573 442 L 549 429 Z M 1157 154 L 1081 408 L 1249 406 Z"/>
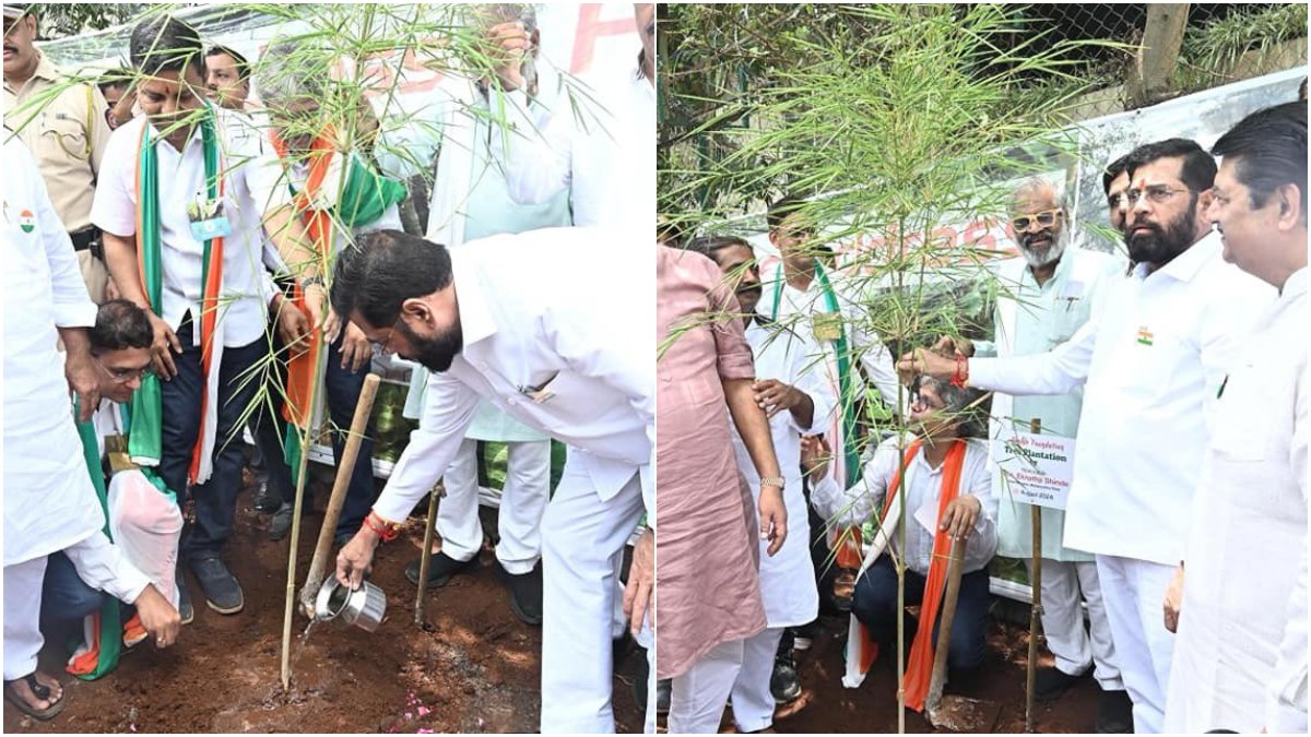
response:
<path id="1" fill-rule="evenodd" d="M 819 361 L 819 346 L 804 332 L 772 323 L 755 311 L 760 299 L 760 274 L 755 254 L 738 239 L 701 239 L 688 245 L 704 252 L 728 278 L 738 278 L 738 304 L 746 315 L 746 341 L 755 358 L 758 401 L 770 416 L 770 435 L 784 477 L 783 500 L 793 521 L 794 540 L 809 540 L 806 497 L 801 483 L 801 435 L 821 434 L 836 405 Z M 742 437 L 733 428 L 733 450 L 738 469 L 753 489 L 760 475 L 751 462 Z M 796 527 L 801 521 L 801 527 Z M 742 645 L 742 667 L 733 685 L 733 721 L 742 733 L 759 732 L 773 724 L 775 695 L 771 690 L 775 656 L 783 631 L 800 627 L 819 615 L 810 548 L 783 546 L 772 557 L 768 543 L 760 543 L 760 597 L 766 628 Z M 791 653 L 788 653 L 791 657 Z M 793 674 L 793 682 L 796 677 Z"/>

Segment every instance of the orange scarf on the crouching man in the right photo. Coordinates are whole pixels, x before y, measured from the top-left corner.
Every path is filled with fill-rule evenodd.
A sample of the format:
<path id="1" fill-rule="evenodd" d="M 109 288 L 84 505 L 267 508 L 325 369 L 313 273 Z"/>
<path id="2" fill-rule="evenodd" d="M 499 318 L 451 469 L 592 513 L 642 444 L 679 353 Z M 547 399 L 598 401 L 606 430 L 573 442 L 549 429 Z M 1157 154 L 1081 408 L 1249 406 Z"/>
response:
<path id="1" fill-rule="evenodd" d="M 897 493 L 901 485 L 901 468 L 910 467 L 915 454 L 919 452 L 923 441 L 916 438 L 902 459 L 902 466 L 893 473 L 893 480 L 888 485 L 888 493 Z M 961 469 L 965 466 L 965 441 L 957 439 L 952 448 L 947 451 L 943 460 L 943 487 L 937 502 L 937 523 L 943 523 L 943 513 L 947 505 L 952 504 L 961 493 Z M 884 518 L 888 508 L 884 504 Z M 882 522 L 880 519 L 880 523 Z M 928 565 L 928 577 L 924 581 L 924 601 L 919 612 L 919 628 L 915 629 L 915 641 L 910 648 L 910 662 L 906 664 L 906 678 L 902 685 L 906 688 L 906 706 L 922 712 L 924 711 L 924 696 L 928 695 L 928 682 L 933 675 L 933 624 L 937 622 L 937 610 L 943 605 L 943 593 L 947 590 L 947 565 L 952 555 L 952 539 L 941 528 L 933 535 L 933 560 Z"/>

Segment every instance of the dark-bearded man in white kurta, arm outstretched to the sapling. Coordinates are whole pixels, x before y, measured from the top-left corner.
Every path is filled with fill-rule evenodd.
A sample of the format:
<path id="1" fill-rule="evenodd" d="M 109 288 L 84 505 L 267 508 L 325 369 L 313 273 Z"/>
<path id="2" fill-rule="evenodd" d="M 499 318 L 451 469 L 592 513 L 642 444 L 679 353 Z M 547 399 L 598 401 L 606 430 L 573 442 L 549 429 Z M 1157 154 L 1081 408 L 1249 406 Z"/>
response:
<path id="1" fill-rule="evenodd" d="M 1205 219 L 1213 178 L 1214 160 L 1190 140 L 1141 147 L 1129 190 L 1133 273 L 1101 290 L 1088 323 L 1050 353 L 966 363 L 971 386 L 1011 395 L 1084 383 L 1063 544 L 1096 556 L 1134 729 L 1143 733 L 1162 729 L 1173 635 L 1160 601 L 1184 555 L 1210 405 L 1273 298 L 1221 258 Z M 956 361 L 924 350 L 901 367 L 957 374 Z"/>

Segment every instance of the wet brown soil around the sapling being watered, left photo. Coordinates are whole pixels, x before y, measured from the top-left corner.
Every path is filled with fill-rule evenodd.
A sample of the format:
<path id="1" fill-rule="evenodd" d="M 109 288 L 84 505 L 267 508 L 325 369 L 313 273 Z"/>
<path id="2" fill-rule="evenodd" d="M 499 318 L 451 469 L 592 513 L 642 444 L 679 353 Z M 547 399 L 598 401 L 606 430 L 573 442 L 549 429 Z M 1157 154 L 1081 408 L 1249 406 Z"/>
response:
<path id="1" fill-rule="evenodd" d="M 326 493 L 319 494 L 326 498 Z M 497 577 L 496 557 L 430 591 L 426 624 L 414 624 L 414 586 L 405 565 L 422 546 L 422 519 L 379 548 L 372 581 L 388 595 L 376 632 L 328 622 L 292 623 L 292 685 L 284 694 L 279 650 L 287 586 L 287 540 L 269 542 L 267 515 L 241 497 L 225 559 L 245 593 L 245 611 L 222 616 L 189 586 L 195 620 L 166 650 L 142 645 L 110 675 L 83 682 L 63 673 L 63 648 L 49 644 L 42 666 L 59 673 L 68 706 L 37 723 L 5 703 L 5 732 L 536 732 L 541 629 L 520 623 Z M 426 510 L 426 508 L 425 508 Z M 303 581 L 320 514 L 302 526 Z M 299 584 L 298 584 L 299 594 Z M 632 688 L 635 657 L 615 678 L 620 732 L 641 732 Z"/>

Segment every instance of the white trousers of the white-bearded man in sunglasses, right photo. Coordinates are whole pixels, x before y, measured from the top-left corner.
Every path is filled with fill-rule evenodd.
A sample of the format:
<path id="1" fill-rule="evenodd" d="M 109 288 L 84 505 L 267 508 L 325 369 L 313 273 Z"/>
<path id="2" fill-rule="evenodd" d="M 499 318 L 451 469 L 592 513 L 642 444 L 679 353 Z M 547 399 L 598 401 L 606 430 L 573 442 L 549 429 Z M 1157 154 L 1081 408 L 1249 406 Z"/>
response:
<path id="1" fill-rule="evenodd" d="M 1032 563 L 1033 559 L 1024 560 L 1030 578 Z M 1088 602 L 1091 636 L 1083 627 L 1080 601 Z M 1079 675 L 1095 665 L 1093 675 L 1103 691 L 1124 690 L 1096 563 L 1042 559 L 1042 633 L 1057 658 L 1057 670 Z"/>

